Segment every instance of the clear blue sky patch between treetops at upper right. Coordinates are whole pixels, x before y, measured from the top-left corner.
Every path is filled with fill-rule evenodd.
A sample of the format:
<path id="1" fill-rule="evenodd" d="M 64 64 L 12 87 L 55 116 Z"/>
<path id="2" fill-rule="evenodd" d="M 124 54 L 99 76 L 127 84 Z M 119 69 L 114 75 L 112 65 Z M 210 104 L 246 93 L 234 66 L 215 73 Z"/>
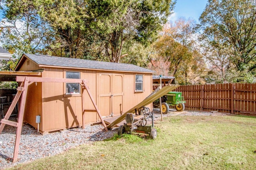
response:
<path id="1" fill-rule="evenodd" d="M 198 22 L 198 18 L 204 11 L 208 0 L 177 0 L 174 14 L 170 16 L 170 21 L 175 21 L 180 17 L 192 18 Z"/>

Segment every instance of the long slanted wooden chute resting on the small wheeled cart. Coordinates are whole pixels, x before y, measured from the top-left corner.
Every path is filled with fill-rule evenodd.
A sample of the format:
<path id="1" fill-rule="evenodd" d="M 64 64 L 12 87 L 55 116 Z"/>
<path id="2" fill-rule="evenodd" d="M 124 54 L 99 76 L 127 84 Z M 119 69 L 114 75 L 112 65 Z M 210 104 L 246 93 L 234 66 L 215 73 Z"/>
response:
<path id="1" fill-rule="evenodd" d="M 170 84 L 168 86 L 164 86 L 162 89 L 157 88 L 154 92 L 152 92 L 152 94 L 150 94 L 142 102 L 140 102 L 136 106 L 132 107 L 130 110 L 126 111 L 123 115 L 121 115 L 118 119 L 114 120 L 112 123 L 107 125 L 107 128 L 111 129 L 112 127 L 114 127 L 115 125 L 117 125 L 118 123 L 123 121 L 125 119 L 127 113 L 135 113 L 135 109 L 138 110 L 138 109 L 142 108 L 142 106 L 149 105 L 150 103 L 154 102 L 155 100 L 159 99 L 160 97 L 164 96 L 168 92 L 170 92 L 178 87 L 179 87 L 179 85 Z"/>

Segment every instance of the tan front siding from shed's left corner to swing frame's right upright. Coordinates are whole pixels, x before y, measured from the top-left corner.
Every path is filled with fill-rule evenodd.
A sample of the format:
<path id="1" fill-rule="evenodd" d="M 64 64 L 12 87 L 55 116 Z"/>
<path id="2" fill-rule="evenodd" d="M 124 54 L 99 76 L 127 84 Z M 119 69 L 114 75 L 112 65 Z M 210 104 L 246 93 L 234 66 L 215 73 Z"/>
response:
<path id="1" fill-rule="evenodd" d="M 80 70 L 68 70 L 77 71 Z M 45 68 L 42 77 L 66 78 L 62 68 Z M 82 73 L 81 73 L 82 78 Z M 82 97 L 64 97 L 64 83 L 42 83 L 42 131 L 82 125 Z"/>

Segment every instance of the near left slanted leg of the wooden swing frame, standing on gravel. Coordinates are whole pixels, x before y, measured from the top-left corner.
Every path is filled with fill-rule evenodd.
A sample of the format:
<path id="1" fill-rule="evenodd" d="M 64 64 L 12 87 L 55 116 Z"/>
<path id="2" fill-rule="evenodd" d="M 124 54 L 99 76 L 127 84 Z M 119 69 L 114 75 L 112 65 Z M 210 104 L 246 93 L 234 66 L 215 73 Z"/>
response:
<path id="1" fill-rule="evenodd" d="M 20 102 L 20 111 L 19 111 L 19 118 L 18 118 L 18 127 L 17 127 L 17 131 L 16 131 L 13 162 L 16 162 L 16 160 L 18 158 L 19 146 L 20 146 L 20 135 L 21 135 L 27 93 L 28 93 L 28 77 L 25 78 L 22 98 L 21 98 L 21 102 Z"/>

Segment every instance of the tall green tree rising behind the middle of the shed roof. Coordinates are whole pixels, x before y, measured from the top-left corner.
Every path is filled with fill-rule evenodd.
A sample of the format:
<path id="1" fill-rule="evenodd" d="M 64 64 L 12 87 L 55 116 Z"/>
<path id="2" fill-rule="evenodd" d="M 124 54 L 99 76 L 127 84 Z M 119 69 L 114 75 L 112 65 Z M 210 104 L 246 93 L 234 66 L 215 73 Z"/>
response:
<path id="1" fill-rule="evenodd" d="M 105 55 L 120 62 L 124 43 L 136 40 L 144 46 L 155 41 L 162 24 L 172 14 L 172 0 L 95 0 L 95 28 L 104 42 Z"/>

